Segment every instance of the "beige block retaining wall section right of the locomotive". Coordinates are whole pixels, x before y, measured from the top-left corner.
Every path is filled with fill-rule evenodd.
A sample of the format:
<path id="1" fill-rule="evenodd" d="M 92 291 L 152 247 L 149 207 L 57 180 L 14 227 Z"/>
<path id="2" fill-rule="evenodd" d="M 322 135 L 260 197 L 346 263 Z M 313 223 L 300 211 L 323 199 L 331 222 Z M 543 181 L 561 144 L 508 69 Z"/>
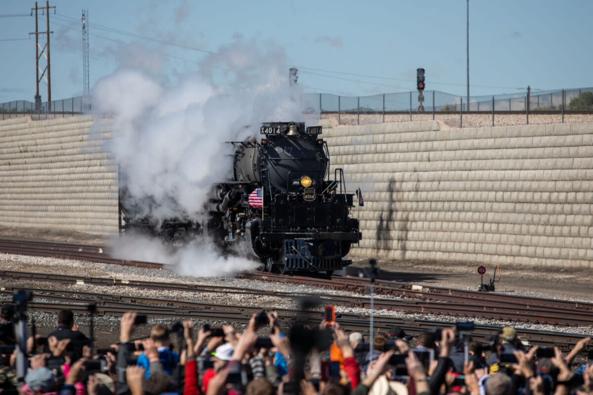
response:
<path id="1" fill-rule="evenodd" d="M 593 123 L 421 121 L 323 137 L 349 192 L 363 191 L 353 255 L 593 267 Z"/>

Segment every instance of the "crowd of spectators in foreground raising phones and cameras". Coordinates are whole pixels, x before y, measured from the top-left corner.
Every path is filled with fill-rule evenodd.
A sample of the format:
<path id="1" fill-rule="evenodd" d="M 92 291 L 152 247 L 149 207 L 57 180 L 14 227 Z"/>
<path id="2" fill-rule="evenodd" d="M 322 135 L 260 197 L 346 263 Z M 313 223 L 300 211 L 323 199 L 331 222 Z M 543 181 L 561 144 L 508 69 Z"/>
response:
<path id="1" fill-rule="evenodd" d="M 361 333 L 326 321 L 303 321 L 283 332 L 273 311 L 254 314 L 241 333 L 234 325 L 197 329 L 186 320 L 154 325 L 141 339 L 134 332 L 142 316 L 128 312 L 119 342 L 94 349 L 72 311 L 62 310 L 47 338 L 28 338 L 20 354 L 27 366 L 18 377 L 14 314 L 11 304 L 2 306 L 0 392 L 6 394 L 593 394 L 591 361 L 572 366 L 591 338 L 566 356 L 556 347 L 524 349 L 511 327 L 490 343 L 455 326 L 415 340 L 395 327 L 365 342 Z M 172 341 L 173 335 L 182 340 Z"/>

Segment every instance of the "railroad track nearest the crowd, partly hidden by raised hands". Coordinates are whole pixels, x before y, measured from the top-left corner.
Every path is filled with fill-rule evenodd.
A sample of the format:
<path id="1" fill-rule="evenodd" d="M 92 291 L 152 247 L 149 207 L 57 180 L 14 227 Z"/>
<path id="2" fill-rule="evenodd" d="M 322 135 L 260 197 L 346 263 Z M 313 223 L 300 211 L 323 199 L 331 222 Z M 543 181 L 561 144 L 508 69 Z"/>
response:
<path id="1" fill-rule="evenodd" d="M 14 287 L 14 290 L 17 287 Z M 160 298 L 131 297 L 118 294 L 88 293 L 78 290 L 51 290 L 44 288 L 28 288 L 34 294 L 34 300 L 28 303 L 29 311 L 57 313 L 61 309 L 71 309 L 77 314 L 88 314 L 88 304 L 97 306 L 95 316 L 121 316 L 126 311 L 148 314 L 150 317 L 180 320 L 199 319 L 206 322 L 226 322 L 247 325 L 251 315 L 262 310 L 257 306 L 231 306 L 221 304 L 200 303 L 187 300 L 169 300 Z M 2 287 L 0 296 L 8 298 L 12 287 Z M 280 323 L 284 327 L 293 325 L 297 320 L 306 320 L 311 325 L 321 322 L 323 311 L 301 311 L 294 309 L 276 309 Z M 368 334 L 369 316 L 359 314 L 340 314 L 340 326 L 347 330 L 356 330 Z M 442 329 L 451 326 L 451 322 L 422 319 L 401 319 L 387 316 L 374 316 L 374 326 L 378 331 L 385 332 L 393 326 L 400 326 L 409 335 L 417 336 L 425 330 Z M 476 325 L 473 337 L 487 343 L 491 335 L 499 329 L 497 326 Z M 518 330 L 525 345 L 558 345 L 568 350 L 575 345 L 582 335 L 561 332 L 541 332 L 537 330 Z"/>

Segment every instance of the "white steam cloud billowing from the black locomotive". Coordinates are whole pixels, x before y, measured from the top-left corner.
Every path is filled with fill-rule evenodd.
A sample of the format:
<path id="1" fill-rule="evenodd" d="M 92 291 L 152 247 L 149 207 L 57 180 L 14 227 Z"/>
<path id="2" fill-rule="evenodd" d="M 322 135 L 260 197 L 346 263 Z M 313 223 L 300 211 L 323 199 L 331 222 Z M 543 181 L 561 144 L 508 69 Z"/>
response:
<path id="1" fill-rule="evenodd" d="M 259 134 L 264 121 L 305 120 L 301 91 L 288 84 L 286 56 L 269 48 L 235 37 L 177 86 L 129 67 L 97 82 L 94 108 L 113 117 L 108 149 L 140 204 L 139 216 L 199 220 L 212 184 L 229 179 L 233 147 L 225 142 Z M 114 245 L 120 258 L 160 261 L 183 274 L 229 275 L 254 267 L 245 258 L 216 256 L 204 243 L 171 254 L 155 240 L 124 240 Z"/>

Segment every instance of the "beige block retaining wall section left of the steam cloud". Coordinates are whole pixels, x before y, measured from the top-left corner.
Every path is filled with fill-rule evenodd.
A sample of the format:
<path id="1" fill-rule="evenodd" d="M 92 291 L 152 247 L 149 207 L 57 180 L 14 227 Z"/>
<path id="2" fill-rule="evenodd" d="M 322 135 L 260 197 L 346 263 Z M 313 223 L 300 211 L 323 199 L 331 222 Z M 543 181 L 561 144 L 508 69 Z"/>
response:
<path id="1" fill-rule="evenodd" d="M 0 121 L 0 226 L 117 232 L 117 175 L 93 117 Z"/>

